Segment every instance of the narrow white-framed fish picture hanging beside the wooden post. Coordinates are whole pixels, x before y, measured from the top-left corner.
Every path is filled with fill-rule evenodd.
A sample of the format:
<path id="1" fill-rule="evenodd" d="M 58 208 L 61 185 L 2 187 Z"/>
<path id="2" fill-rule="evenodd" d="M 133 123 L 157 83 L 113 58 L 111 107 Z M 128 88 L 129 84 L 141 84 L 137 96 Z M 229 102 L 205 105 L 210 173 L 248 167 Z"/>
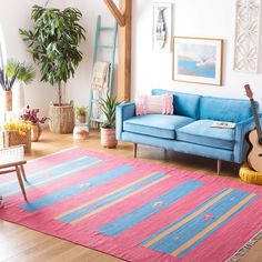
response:
<path id="1" fill-rule="evenodd" d="M 172 3 L 153 3 L 153 50 L 171 52 L 172 43 Z"/>

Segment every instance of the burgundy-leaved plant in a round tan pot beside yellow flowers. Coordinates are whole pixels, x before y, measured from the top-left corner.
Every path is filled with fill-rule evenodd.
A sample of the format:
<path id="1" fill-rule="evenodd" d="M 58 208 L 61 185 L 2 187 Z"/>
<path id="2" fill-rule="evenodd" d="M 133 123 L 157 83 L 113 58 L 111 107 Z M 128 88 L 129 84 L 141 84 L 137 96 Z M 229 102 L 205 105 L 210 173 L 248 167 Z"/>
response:
<path id="1" fill-rule="evenodd" d="M 40 123 L 44 123 L 47 121 L 48 118 L 43 117 L 43 118 L 38 118 L 38 113 L 39 113 L 39 109 L 32 109 L 30 110 L 30 107 L 28 105 L 24 113 L 22 115 L 20 115 L 21 120 L 26 121 L 26 122 L 30 122 L 31 123 L 31 141 L 32 142 L 38 142 L 41 133 L 42 133 L 42 129 Z"/>

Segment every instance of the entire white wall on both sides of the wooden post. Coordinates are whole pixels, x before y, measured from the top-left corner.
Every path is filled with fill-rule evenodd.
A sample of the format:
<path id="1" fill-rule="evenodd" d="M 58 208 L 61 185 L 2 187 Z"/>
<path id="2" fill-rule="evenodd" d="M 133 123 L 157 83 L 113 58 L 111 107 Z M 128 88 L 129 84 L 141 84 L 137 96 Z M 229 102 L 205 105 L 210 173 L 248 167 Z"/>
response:
<path id="1" fill-rule="evenodd" d="M 31 24 L 31 7 L 44 2 L 46 0 L 0 0 L 0 23 L 3 28 L 9 57 L 31 61 L 31 57 L 26 52 L 26 44 L 18 33 L 18 28 L 28 29 Z M 152 88 L 245 98 L 242 87 L 250 83 L 255 99 L 262 104 L 262 74 L 239 73 L 232 70 L 235 0 L 172 0 L 174 2 L 173 33 L 175 36 L 224 39 L 223 87 L 172 81 L 172 56 L 155 53 L 152 50 L 153 2 L 153 0 L 133 0 L 133 98 L 135 94 L 149 93 Z M 77 105 L 88 105 L 97 16 L 101 14 L 103 21 L 110 24 L 113 21 L 112 16 L 102 0 L 51 0 L 49 6 L 60 8 L 73 6 L 83 13 L 81 23 L 87 30 L 87 41 L 82 42 L 80 49 L 84 58 L 77 70 L 75 78 L 68 82 L 66 90 L 68 100 L 73 99 Z M 56 88 L 39 82 L 39 80 L 40 74 L 38 73 L 33 83 L 26 88 L 26 98 L 31 107 L 39 107 L 47 112 L 50 101 L 56 100 Z"/>

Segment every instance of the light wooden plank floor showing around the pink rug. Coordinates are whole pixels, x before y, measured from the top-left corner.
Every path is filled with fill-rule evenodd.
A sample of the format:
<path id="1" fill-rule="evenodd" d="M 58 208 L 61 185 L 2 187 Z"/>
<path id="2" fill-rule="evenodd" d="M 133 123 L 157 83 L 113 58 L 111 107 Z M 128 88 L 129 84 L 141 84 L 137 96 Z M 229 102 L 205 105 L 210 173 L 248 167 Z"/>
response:
<path id="1" fill-rule="evenodd" d="M 32 144 L 32 151 L 27 155 L 27 159 L 36 159 L 72 145 L 82 145 L 93 151 L 132 158 L 132 144 L 130 143 L 119 143 L 118 149 L 103 149 L 99 143 L 98 131 L 92 131 L 87 141 L 73 141 L 71 134 L 51 134 L 46 131 L 40 141 Z M 168 158 L 164 159 L 163 150 L 148 147 L 139 147 L 138 158 L 173 168 L 216 175 L 216 161 L 205 158 L 168 152 Z M 239 180 L 238 169 L 236 164 L 223 163 L 221 175 Z M 117 262 L 121 260 L 0 220 L 0 261 Z M 262 261 L 262 240 L 241 261 Z"/>

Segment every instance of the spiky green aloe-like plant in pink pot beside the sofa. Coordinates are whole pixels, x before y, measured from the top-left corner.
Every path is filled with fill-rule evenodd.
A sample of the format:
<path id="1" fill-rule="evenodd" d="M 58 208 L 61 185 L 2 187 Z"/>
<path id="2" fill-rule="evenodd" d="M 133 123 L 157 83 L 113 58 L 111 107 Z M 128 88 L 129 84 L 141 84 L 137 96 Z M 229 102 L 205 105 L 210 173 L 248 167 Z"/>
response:
<path id="1" fill-rule="evenodd" d="M 104 114 L 104 121 L 101 125 L 101 145 L 104 148 L 115 148 L 115 109 L 120 104 L 117 98 L 111 98 L 108 93 L 105 99 L 101 99 L 100 107 Z"/>

